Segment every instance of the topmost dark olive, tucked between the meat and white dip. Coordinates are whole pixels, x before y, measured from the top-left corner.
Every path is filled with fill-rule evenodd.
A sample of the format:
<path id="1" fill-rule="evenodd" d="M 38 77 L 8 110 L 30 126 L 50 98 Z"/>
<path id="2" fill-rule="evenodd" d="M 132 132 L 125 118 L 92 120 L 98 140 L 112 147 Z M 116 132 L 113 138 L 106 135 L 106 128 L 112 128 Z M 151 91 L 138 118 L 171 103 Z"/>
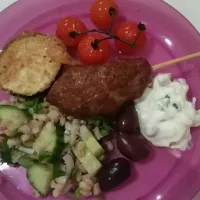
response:
<path id="1" fill-rule="evenodd" d="M 117 115 L 116 130 L 126 133 L 137 133 L 138 115 L 133 101 L 126 102 Z"/>

